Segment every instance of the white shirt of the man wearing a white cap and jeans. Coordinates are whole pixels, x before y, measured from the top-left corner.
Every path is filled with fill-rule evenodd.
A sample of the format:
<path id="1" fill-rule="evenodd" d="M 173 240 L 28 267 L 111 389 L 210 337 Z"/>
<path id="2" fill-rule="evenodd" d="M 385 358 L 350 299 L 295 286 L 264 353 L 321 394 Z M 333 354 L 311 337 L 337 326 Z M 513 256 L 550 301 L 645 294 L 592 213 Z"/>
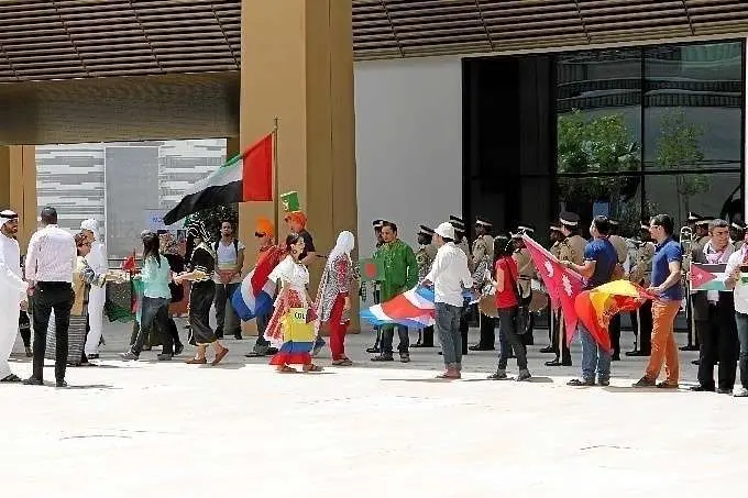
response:
<path id="1" fill-rule="evenodd" d="M 426 279 L 433 283 L 435 302 L 462 308 L 462 289 L 473 286 L 468 268 L 468 255 L 453 242 L 439 247 Z"/>

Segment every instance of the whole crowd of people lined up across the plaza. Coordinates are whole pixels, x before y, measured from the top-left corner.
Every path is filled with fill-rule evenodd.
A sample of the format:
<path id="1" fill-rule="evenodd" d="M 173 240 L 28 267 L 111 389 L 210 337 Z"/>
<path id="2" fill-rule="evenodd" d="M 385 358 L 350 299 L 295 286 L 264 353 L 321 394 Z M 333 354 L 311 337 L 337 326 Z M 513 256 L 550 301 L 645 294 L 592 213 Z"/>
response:
<path id="1" fill-rule="evenodd" d="M 33 356 L 33 374 L 23 380 L 28 385 L 43 384 L 43 363 L 55 359 L 56 386 L 65 387 L 66 366 L 90 364 L 99 357 L 102 341 L 105 286 L 107 281 L 122 281 L 122 272 L 110 270 L 106 247 L 100 240 L 98 224 L 86 220 L 75 235 L 57 225 L 54 208 L 44 208 L 42 228 L 31 237 L 25 257 L 25 274 L 16 242 L 18 214 L 0 212 L 0 292 L 3 296 L 2 328 L 0 328 L 0 381 L 21 381 L 8 364 L 15 334 L 29 323 L 34 331 L 33 347 L 24 336 L 26 354 Z M 270 280 L 277 283 L 274 306 L 261 310 L 256 319 L 257 339 L 248 357 L 270 356 L 278 373 L 319 372 L 314 362 L 326 342 L 320 331 L 329 330 L 332 365 L 350 366 L 345 354 L 345 334 L 350 324 L 352 296 L 360 280 L 358 265 L 352 259 L 355 239 L 341 232 L 334 248 L 320 256 L 307 230 L 304 212 L 287 213 L 288 234 L 276 241 L 273 223 L 261 219 L 255 229 L 256 259 L 277 258 Z M 630 254 L 630 240 L 617 233 L 618 222 L 607 217 L 595 217 L 588 226 L 572 212 L 562 212 L 557 223 L 549 226 L 550 253 L 562 265 L 579 274 L 585 289 L 593 289 L 615 279 L 627 278 L 654 298 L 637 312 L 631 322 L 637 333 L 638 348 L 629 356 L 649 356 L 649 362 L 635 387 L 672 389 L 680 386 L 679 353 L 674 322 L 682 308 L 693 320 L 693 335 L 700 346 L 698 384 L 696 391 L 733 394 L 737 363 L 740 365 L 740 387 L 735 396 L 748 396 L 748 287 L 741 273 L 748 273 L 748 245 L 744 244 L 745 226 L 724 220 L 707 220 L 690 215 L 694 237 L 678 240 L 673 219 L 659 214 L 641 225 L 636 241 L 636 253 Z M 417 251 L 398 236 L 398 226 L 388 220 L 375 220 L 376 251 L 382 274 L 362 284 L 360 294 L 372 290 L 375 303 L 422 285 L 433 289 L 435 325 L 418 331 L 413 347 L 433 347 L 435 332 L 443 356 L 444 372 L 439 376 L 458 379 L 462 375 L 463 355 L 470 351 L 495 348 L 498 325 L 499 355 L 497 368 L 488 378 L 513 378 L 507 374 L 508 361 L 516 358 L 518 381 L 531 378 L 527 347 L 534 343 L 534 318 L 528 305 L 538 279 L 522 236 L 532 237 L 535 229 L 520 224 L 507 234 L 493 236 L 490 220 L 475 220 L 475 240 L 469 244 L 465 223 L 459 217 L 436 229 L 421 225 Z M 585 232 L 583 232 L 585 230 Z M 584 233 L 584 234 L 583 234 Z M 176 242 L 168 233 L 146 231 L 142 239 L 142 267 L 133 275 L 143 289 L 142 302 L 132 344 L 122 359 L 136 361 L 142 351 L 161 341 L 157 358 L 170 361 L 184 350 L 174 322 L 172 307 L 188 301 L 188 342 L 195 354 L 187 364 L 205 365 L 212 350 L 211 365 L 220 364 L 229 354 L 221 342 L 224 335 L 242 337 L 241 321 L 231 305 L 231 296 L 241 286 L 246 246 L 235 236 L 230 221 L 221 224 L 221 233 L 213 241 L 201 223 L 191 223 L 187 231 L 187 251 L 178 255 Z M 278 237 L 280 239 L 280 237 Z M 739 239 L 739 240 L 738 240 Z M 280 243 L 278 243 L 280 242 Z M 324 262 L 316 295 L 310 294 L 309 266 Z M 708 263 L 727 265 L 723 291 L 689 291 L 689 265 Z M 185 286 L 189 283 L 189 286 Z M 189 288 L 185 292 L 185 288 Z M 188 297 L 187 297 L 188 295 Z M 468 330 L 471 312 L 477 307 L 480 341 L 469 346 Z M 685 303 L 685 306 L 683 306 Z M 217 328 L 210 324 L 215 308 Z M 304 309 L 307 322 L 314 322 L 314 340 L 289 341 L 294 335 L 288 320 L 293 310 Z M 20 319 L 19 319 L 20 314 Z M 54 323 L 51 327 L 51 316 Z M 581 376 L 571 386 L 607 386 L 612 362 L 620 359 L 620 317 L 610 320 L 612 351 L 595 342 L 584 325 L 576 331 L 564 330 L 559 310 L 551 310 L 550 345 L 540 350 L 554 354 L 548 366 L 571 366 L 568 346 L 570 334 L 579 334 L 582 343 Z M 25 319 L 24 319 L 25 317 Z M 13 323 L 11 323 L 11 319 Z M 398 332 L 398 357 L 410 362 L 410 342 L 405 325 L 386 323 L 376 328 L 376 340 L 367 352 L 373 362 L 393 362 L 395 329 Z M 150 337 L 157 336 L 156 341 Z M 714 367 L 718 365 L 717 379 Z M 664 379 L 658 383 L 664 367 Z"/>

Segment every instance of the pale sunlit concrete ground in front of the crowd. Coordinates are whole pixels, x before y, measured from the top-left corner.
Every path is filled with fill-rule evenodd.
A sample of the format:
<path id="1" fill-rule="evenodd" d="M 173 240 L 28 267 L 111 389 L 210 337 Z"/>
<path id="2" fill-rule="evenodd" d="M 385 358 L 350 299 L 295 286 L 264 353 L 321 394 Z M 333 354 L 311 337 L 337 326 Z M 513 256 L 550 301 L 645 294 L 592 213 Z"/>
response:
<path id="1" fill-rule="evenodd" d="M 433 378 L 438 350 L 372 364 L 370 334 L 348 339 L 355 366 L 311 375 L 244 358 L 250 340 L 227 341 L 218 367 L 122 363 L 129 328 L 105 335 L 99 366 L 69 369 L 68 389 L 0 387 L 1 496 L 662 498 L 743 490 L 748 469 L 748 401 L 635 390 L 644 358 L 614 363 L 608 388 L 566 387 L 578 368 L 542 365 L 543 331 L 527 384 L 484 380 L 493 352 L 471 353 L 459 381 Z M 694 357 L 681 354 L 683 385 Z"/>

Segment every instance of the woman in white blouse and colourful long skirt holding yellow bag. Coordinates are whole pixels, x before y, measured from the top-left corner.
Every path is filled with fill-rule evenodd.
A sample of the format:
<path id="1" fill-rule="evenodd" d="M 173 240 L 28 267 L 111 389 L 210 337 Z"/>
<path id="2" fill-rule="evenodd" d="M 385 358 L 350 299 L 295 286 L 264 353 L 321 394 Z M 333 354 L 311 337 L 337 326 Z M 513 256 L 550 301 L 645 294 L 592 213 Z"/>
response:
<path id="1" fill-rule="evenodd" d="M 302 342 L 302 350 L 294 347 L 285 330 L 284 318 L 292 308 L 304 308 L 309 310 L 311 298 L 307 292 L 309 285 L 309 270 L 301 263 L 304 254 L 304 239 L 297 233 L 292 233 L 286 237 L 286 252 L 288 255 L 276 266 L 268 279 L 271 281 L 280 280 L 280 294 L 275 300 L 275 311 L 267 323 L 265 337 L 274 346 L 282 345 L 278 352 L 271 359 L 271 365 L 275 365 L 277 372 L 282 374 L 296 373 L 290 367 L 292 364 L 304 365 L 304 372 L 321 372 L 322 368 L 311 362 L 312 342 Z M 306 346 L 309 346 L 308 350 Z"/>

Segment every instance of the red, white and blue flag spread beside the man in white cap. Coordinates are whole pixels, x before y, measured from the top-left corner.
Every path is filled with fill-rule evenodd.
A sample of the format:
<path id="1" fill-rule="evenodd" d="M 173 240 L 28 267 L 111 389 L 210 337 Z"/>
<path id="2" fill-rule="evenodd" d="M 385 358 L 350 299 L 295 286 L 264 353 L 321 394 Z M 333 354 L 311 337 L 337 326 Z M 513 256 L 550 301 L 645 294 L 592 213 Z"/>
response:
<path id="1" fill-rule="evenodd" d="M 372 325 L 399 324 L 425 329 L 436 323 L 433 290 L 418 286 L 381 305 L 361 311 L 361 319 Z"/>

